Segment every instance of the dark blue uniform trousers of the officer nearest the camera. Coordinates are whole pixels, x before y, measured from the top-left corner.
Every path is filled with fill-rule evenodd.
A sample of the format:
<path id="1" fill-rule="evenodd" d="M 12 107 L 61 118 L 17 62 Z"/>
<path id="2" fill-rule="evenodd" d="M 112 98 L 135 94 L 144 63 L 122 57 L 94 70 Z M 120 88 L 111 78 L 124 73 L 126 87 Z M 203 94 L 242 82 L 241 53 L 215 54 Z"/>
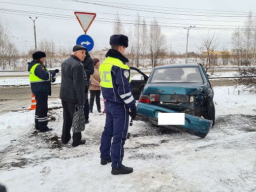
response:
<path id="1" fill-rule="evenodd" d="M 126 140 L 129 125 L 129 107 L 116 102 L 105 102 L 106 123 L 101 138 L 101 158 L 111 157 L 112 167 L 119 168 L 122 165 L 123 145 Z M 111 139 L 113 141 L 111 144 Z M 111 155 L 110 155 L 111 152 Z"/>

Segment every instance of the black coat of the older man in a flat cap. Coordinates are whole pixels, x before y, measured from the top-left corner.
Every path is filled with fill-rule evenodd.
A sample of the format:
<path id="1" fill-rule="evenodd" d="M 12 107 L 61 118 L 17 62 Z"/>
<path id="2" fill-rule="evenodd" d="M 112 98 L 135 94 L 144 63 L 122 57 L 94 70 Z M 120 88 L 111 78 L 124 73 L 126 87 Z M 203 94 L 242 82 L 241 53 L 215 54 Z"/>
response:
<path id="1" fill-rule="evenodd" d="M 79 105 L 84 104 L 84 91 L 87 77 L 82 62 L 71 55 L 61 64 L 61 85 L 59 98 L 77 100 Z"/>

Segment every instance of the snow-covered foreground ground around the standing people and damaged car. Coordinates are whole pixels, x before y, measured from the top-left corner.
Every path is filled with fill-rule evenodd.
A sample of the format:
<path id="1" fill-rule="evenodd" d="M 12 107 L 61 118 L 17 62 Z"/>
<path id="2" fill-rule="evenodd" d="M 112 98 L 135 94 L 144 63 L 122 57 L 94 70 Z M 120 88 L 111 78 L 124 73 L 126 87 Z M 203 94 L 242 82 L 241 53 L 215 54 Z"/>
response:
<path id="1" fill-rule="evenodd" d="M 204 139 L 135 121 L 124 151 L 129 175 L 100 164 L 105 115 L 96 107 L 78 147 L 61 144 L 60 100 L 49 103 L 51 132 L 35 131 L 33 110 L 1 115 L 0 184 L 9 192 L 256 191 L 256 95 L 221 86 L 214 101 L 216 124 Z"/>

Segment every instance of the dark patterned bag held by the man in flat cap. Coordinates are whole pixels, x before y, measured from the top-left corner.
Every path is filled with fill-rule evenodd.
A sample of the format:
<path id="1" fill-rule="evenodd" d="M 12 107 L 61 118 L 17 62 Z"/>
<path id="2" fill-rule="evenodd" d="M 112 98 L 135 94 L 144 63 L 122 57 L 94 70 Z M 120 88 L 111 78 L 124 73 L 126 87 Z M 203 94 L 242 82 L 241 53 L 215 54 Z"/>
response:
<path id="1" fill-rule="evenodd" d="M 78 104 L 76 104 L 72 121 L 73 133 L 82 132 L 85 129 L 85 117 L 83 108 L 84 106 L 80 107 Z"/>

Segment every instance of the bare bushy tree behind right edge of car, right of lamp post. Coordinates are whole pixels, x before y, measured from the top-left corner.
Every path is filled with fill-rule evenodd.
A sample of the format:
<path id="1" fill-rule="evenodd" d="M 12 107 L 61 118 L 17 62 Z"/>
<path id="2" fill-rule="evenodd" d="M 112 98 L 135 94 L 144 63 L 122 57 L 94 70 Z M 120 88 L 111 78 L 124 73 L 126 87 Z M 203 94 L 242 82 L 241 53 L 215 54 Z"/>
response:
<path id="1" fill-rule="evenodd" d="M 207 35 L 207 37 L 201 36 L 202 39 L 202 47 L 198 47 L 200 50 L 201 54 L 199 54 L 201 60 L 202 60 L 202 65 L 204 66 L 206 72 L 210 67 L 213 67 L 217 63 L 217 55 L 214 50 L 217 49 L 219 45 L 219 38 L 215 38 L 215 33 L 213 34 L 212 37 Z"/>

